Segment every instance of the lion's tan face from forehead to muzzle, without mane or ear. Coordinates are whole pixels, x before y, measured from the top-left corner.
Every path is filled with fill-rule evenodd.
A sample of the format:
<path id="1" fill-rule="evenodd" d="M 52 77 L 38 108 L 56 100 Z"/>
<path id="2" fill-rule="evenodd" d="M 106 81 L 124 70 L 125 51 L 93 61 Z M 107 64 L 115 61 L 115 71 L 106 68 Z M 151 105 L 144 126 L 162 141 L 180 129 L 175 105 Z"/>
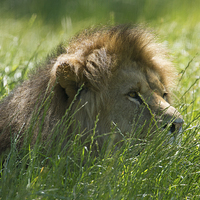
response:
<path id="1" fill-rule="evenodd" d="M 183 119 L 170 106 L 167 88 L 157 72 L 143 69 L 136 62 L 128 62 L 113 74 L 106 91 L 102 122 L 113 122 L 123 134 L 139 130 L 141 137 L 164 129 L 169 123 L 172 123 L 169 133 L 178 133 Z"/>

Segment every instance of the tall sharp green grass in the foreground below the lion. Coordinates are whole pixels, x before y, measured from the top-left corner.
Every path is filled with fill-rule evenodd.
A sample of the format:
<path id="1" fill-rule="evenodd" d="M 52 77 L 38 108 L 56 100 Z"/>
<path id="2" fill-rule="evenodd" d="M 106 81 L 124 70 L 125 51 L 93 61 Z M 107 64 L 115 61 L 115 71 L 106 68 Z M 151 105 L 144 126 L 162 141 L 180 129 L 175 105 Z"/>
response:
<path id="1" fill-rule="evenodd" d="M 55 138 L 67 129 L 61 120 Z M 120 148 L 99 149 L 98 156 L 90 148 L 92 135 L 86 146 L 81 133 L 72 133 L 64 149 L 65 134 L 50 148 L 38 139 L 34 147 L 25 143 L 21 150 L 16 137 L 1 161 L 0 194 L 2 199 L 198 199 L 198 132 L 198 127 L 184 128 L 181 145 L 167 143 L 167 130 L 135 143 L 136 132 Z"/>

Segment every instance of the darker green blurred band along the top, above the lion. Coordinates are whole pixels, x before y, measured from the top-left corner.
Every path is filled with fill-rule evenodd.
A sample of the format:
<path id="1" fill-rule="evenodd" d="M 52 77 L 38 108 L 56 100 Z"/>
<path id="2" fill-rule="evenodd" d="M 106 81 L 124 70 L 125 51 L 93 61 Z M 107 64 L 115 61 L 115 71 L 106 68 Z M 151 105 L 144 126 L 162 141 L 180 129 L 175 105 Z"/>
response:
<path id="1" fill-rule="evenodd" d="M 107 23 L 152 21 L 159 18 L 191 22 L 198 13 L 199 0 L 1 0 L 1 13 L 14 18 L 30 18 L 36 14 L 40 21 L 60 27 L 68 17 L 74 23 L 91 21 Z M 184 17 L 185 16 L 185 17 Z"/>

